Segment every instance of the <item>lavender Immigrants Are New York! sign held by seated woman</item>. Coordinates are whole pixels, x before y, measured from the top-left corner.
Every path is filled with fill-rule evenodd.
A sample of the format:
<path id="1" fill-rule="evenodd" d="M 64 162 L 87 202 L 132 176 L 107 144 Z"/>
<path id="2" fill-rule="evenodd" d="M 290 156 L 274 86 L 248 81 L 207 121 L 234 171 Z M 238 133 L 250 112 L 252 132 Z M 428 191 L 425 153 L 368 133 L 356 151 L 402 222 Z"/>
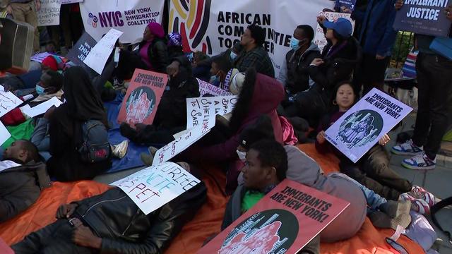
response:
<path id="1" fill-rule="evenodd" d="M 412 108 L 374 88 L 326 130 L 326 140 L 357 162 L 410 111 Z"/>

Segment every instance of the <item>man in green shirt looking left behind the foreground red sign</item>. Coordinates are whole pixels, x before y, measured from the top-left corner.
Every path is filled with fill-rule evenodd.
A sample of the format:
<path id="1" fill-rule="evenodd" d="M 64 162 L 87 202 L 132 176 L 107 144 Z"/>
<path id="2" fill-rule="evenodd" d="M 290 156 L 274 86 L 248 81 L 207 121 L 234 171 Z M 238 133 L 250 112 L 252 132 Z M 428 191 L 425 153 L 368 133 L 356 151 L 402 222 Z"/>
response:
<path id="1" fill-rule="evenodd" d="M 244 183 L 239 185 L 227 202 L 221 229 L 224 230 L 240 215 L 256 205 L 267 193 L 285 179 L 287 155 L 275 140 L 255 143 L 246 153 L 242 172 Z M 319 236 L 314 238 L 299 254 L 315 254 L 320 251 Z"/>

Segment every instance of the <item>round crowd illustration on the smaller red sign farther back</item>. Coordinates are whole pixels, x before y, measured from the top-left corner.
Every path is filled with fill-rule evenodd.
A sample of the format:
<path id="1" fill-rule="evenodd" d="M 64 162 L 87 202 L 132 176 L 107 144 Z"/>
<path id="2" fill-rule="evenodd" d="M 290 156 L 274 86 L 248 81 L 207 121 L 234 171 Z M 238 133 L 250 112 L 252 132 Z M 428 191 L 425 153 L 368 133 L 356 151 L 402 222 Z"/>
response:
<path id="1" fill-rule="evenodd" d="M 143 123 L 155 107 L 155 93 L 149 87 L 137 87 L 126 102 L 127 123 Z"/>

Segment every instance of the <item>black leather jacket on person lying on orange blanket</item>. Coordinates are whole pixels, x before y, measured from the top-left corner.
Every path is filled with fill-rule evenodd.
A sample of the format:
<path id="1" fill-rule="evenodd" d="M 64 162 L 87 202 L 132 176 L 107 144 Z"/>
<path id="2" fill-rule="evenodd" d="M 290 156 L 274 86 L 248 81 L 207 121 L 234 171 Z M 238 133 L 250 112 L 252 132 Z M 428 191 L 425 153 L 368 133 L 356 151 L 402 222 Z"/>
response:
<path id="1" fill-rule="evenodd" d="M 147 216 L 119 188 L 76 202 L 73 216 L 102 238 L 100 253 L 162 253 L 206 200 L 201 182 Z"/>

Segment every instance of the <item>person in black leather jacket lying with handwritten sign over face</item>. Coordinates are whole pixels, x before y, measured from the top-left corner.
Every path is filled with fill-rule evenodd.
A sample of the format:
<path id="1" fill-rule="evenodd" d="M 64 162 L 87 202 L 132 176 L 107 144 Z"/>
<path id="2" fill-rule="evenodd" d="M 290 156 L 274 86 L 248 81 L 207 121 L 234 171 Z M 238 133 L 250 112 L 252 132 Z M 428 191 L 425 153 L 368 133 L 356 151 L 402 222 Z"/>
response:
<path id="1" fill-rule="evenodd" d="M 181 164 L 190 171 L 187 164 Z M 194 170 L 190 172 L 198 176 Z M 57 221 L 11 248 L 26 253 L 163 253 L 207 198 L 204 183 L 145 215 L 120 188 L 57 210 Z"/>

